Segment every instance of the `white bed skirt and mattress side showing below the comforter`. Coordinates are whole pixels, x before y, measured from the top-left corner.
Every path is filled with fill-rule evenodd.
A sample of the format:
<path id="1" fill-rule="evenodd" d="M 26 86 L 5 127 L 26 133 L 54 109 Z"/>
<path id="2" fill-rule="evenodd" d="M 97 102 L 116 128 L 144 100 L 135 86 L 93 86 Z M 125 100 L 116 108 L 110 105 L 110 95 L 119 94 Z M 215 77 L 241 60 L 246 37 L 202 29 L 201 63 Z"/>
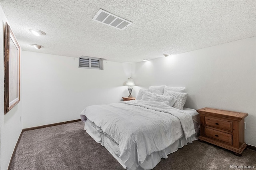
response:
<path id="1" fill-rule="evenodd" d="M 193 134 L 187 139 L 183 134 L 178 140 L 176 140 L 174 143 L 172 143 L 170 146 L 168 146 L 164 150 L 153 152 L 152 154 L 148 155 L 146 157 L 146 160 L 142 164 L 139 164 L 139 166 L 136 168 L 137 170 L 152 169 L 160 162 L 161 158 L 168 158 L 167 156 L 168 154 L 171 154 L 177 151 L 178 148 L 182 148 L 185 144 L 187 145 L 188 142 L 191 143 L 193 140 L 197 140 L 197 137 L 199 136 L 199 128 L 200 128 L 199 114 L 194 109 L 184 108 L 183 111 L 185 111 L 186 113 L 192 116 L 196 134 Z M 84 129 L 90 136 L 92 136 L 92 138 L 94 138 L 96 142 L 104 146 L 110 152 L 110 154 L 112 154 L 112 156 L 114 156 L 114 158 L 118 160 L 118 162 L 123 166 L 124 169 L 127 169 L 127 167 L 124 165 L 124 163 L 118 156 L 120 155 L 119 146 L 112 138 L 102 133 L 101 128 L 97 127 L 93 122 L 89 121 L 88 119 L 85 122 Z"/>

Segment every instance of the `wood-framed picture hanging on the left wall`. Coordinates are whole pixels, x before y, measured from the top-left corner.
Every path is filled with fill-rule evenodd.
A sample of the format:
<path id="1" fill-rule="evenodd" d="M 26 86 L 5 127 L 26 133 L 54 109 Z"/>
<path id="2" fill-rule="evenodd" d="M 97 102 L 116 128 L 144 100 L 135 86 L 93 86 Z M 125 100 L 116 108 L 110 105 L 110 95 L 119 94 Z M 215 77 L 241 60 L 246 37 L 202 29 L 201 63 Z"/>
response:
<path id="1" fill-rule="evenodd" d="M 6 22 L 4 34 L 4 114 L 20 101 L 20 45 Z"/>

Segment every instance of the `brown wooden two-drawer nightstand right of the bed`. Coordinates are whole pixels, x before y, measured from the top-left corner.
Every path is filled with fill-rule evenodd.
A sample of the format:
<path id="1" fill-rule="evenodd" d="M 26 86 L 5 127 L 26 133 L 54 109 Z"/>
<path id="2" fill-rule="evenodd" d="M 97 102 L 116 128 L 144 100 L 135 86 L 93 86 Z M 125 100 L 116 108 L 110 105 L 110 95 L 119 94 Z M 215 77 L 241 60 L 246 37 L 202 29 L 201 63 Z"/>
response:
<path id="1" fill-rule="evenodd" d="M 200 114 L 199 140 L 215 144 L 242 156 L 244 142 L 244 118 L 247 113 L 224 111 L 205 107 Z"/>

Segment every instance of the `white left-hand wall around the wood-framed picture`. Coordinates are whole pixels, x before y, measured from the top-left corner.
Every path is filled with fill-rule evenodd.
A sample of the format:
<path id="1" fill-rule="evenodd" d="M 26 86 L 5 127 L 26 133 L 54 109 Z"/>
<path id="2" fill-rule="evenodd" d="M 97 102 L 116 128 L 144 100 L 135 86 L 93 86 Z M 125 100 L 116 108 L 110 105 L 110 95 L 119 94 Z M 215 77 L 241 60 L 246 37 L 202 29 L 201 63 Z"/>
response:
<path id="1" fill-rule="evenodd" d="M 4 28 L 6 16 L 0 8 L 0 169 L 8 168 L 14 147 L 22 131 L 22 92 L 21 101 L 4 115 Z M 12 27 L 12 26 L 11 26 Z M 15 32 L 14 32 L 15 34 Z M 22 66 L 21 66 L 22 67 Z M 21 72 L 22 75 L 22 72 Z M 22 88 L 22 87 L 20 87 Z"/>

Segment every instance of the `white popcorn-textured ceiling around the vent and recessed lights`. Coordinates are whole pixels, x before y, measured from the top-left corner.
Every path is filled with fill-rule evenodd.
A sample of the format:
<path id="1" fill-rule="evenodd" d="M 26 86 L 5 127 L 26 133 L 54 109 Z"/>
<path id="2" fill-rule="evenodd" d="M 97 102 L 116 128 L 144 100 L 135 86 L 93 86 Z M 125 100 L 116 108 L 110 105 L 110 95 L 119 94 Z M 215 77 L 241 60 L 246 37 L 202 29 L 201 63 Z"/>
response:
<path id="1" fill-rule="evenodd" d="M 0 0 L 22 50 L 140 62 L 256 36 L 256 1 Z M 99 9 L 133 22 L 118 30 Z M 36 37 L 28 30 L 46 32 Z M 30 44 L 43 45 L 34 49 Z"/>

